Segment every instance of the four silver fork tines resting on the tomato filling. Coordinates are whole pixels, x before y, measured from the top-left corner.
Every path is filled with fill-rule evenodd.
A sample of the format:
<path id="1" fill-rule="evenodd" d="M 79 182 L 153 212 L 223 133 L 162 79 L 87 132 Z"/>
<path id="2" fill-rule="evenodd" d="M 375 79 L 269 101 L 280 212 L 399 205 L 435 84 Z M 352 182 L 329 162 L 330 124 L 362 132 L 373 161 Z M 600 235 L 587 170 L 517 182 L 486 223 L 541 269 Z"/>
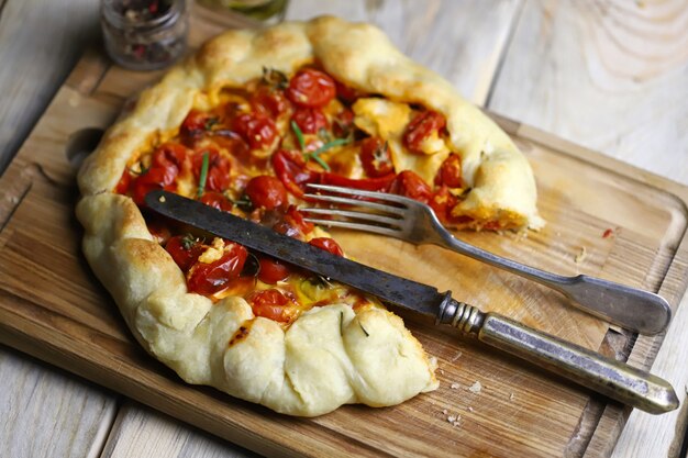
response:
<path id="1" fill-rule="evenodd" d="M 399 223 L 403 220 L 406 204 L 399 196 L 330 185 L 308 187 L 311 192 L 303 196 L 304 199 L 326 205 L 299 209 L 304 213 L 322 215 L 307 216 L 308 222 L 385 235 L 393 235 L 401 230 Z M 348 210 L 342 210 L 342 206 Z"/>

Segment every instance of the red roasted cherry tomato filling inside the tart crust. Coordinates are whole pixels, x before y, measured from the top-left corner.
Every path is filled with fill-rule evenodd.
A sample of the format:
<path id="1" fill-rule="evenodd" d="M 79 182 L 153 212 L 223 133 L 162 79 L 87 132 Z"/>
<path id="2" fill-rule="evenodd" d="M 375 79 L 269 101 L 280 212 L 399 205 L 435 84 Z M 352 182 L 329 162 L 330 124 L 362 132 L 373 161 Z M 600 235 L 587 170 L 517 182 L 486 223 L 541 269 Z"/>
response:
<path id="1" fill-rule="evenodd" d="M 452 212 L 464 186 L 457 154 L 448 154 L 434 180 L 426 182 L 414 171 L 397 170 L 390 143 L 356 125 L 353 104 L 376 96 L 309 65 L 291 77 L 266 69 L 262 78 L 224 89 L 219 97 L 210 110 L 191 110 L 178 131 L 158 133 L 164 141 L 135 155 L 114 189 L 142 208 L 190 292 L 213 300 L 242 295 L 256 316 L 285 324 L 335 301 L 375 303 L 298 266 L 160 223 L 145 209 L 144 197 L 152 190 L 197 199 L 337 256 L 344 256 L 339 244 L 298 210 L 309 183 L 393 192 L 429 203 L 444 222 L 468 221 Z M 446 121 L 432 110 L 413 110 L 400 143 L 408 154 L 428 154 L 429 142 L 446 139 Z"/>

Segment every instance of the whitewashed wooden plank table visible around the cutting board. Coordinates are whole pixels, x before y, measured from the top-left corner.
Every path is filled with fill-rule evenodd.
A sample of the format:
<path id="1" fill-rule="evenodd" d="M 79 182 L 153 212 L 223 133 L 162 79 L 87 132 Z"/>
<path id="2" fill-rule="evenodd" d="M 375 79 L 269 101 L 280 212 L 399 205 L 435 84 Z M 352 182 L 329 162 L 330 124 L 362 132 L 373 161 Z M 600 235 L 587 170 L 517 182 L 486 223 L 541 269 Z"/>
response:
<path id="1" fill-rule="evenodd" d="M 688 1 L 291 0 L 287 18 L 380 25 L 467 98 L 688 185 Z M 0 0 L 0 170 L 85 46 L 96 0 Z M 653 371 L 681 401 L 688 299 Z M 685 406 L 684 406 L 685 407 Z M 686 456 L 686 409 L 633 412 L 614 457 Z M 220 457 L 249 451 L 0 347 L 1 457 Z"/>

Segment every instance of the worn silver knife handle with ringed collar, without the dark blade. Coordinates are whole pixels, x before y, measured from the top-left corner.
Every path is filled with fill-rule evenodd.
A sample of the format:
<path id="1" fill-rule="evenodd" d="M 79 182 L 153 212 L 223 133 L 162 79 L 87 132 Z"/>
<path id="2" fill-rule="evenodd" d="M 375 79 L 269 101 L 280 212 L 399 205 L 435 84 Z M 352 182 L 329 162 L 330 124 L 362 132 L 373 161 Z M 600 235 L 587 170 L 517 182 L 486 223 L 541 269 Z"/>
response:
<path id="1" fill-rule="evenodd" d="M 474 334 L 480 342 L 642 411 L 659 414 L 678 407 L 666 380 L 503 315 L 482 313 L 448 298 L 437 323 Z"/>

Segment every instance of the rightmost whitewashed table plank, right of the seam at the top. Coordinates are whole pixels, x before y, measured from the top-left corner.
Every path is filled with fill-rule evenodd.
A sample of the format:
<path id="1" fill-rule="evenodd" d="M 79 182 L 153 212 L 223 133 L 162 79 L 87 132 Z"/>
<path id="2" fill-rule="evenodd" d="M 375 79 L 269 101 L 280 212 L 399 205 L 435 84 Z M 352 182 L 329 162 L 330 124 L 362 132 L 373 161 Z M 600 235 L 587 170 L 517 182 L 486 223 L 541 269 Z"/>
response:
<path id="1" fill-rule="evenodd" d="M 688 183 L 687 7 L 683 0 L 528 1 L 489 108 Z M 677 361 L 685 360 L 686 302 L 653 367 L 681 400 L 688 370 Z M 633 412 L 613 456 L 676 456 L 687 416 L 686 409 L 662 416 Z M 622 427 L 603 417 L 588 455 L 612 454 Z"/>

